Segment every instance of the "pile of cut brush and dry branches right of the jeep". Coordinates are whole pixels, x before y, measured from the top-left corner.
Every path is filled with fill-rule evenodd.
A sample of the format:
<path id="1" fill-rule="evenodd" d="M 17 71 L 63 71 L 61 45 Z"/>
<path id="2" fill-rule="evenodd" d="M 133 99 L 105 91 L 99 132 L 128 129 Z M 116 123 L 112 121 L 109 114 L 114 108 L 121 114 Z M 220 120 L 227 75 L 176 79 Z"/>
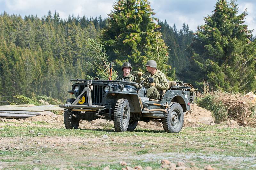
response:
<path id="1" fill-rule="evenodd" d="M 256 104 L 253 94 L 213 91 L 204 94 L 198 104 L 212 112 L 215 123 L 231 119 L 236 120 L 239 125 L 256 127 Z"/>

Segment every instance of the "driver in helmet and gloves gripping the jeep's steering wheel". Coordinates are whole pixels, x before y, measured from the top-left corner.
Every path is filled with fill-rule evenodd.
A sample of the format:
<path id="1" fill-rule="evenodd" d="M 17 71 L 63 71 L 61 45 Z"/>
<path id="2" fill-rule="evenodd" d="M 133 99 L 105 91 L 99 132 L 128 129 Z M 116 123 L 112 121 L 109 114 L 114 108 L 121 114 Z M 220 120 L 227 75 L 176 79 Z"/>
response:
<path id="1" fill-rule="evenodd" d="M 161 71 L 157 69 L 157 64 L 155 60 L 149 60 L 146 64 L 147 72 L 145 75 L 148 77 L 152 77 L 154 82 L 149 84 L 149 88 L 147 91 L 147 97 L 159 100 L 160 99 L 160 92 L 161 90 L 168 90 L 169 85 L 167 82 L 167 79 Z M 148 80 L 144 77 L 142 77 L 142 72 L 138 72 L 138 79 L 136 79 L 136 82 L 145 81 L 148 82 Z"/>

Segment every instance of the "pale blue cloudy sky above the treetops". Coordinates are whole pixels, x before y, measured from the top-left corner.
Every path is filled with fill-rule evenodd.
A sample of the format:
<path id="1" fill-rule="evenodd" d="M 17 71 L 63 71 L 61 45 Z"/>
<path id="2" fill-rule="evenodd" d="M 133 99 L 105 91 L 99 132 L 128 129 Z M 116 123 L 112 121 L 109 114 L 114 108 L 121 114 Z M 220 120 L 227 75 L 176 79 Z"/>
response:
<path id="1" fill-rule="evenodd" d="M 182 24 L 188 24 L 189 28 L 196 31 L 198 25 L 204 24 L 204 17 L 211 15 L 216 0 L 148 0 L 151 8 L 156 12 L 155 17 L 166 20 L 170 26 L 176 25 L 181 29 Z M 106 18 L 116 0 L 0 0 L 0 13 L 37 15 L 43 17 L 48 11 L 58 12 L 62 19 L 74 14 L 86 16 L 100 16 Z M 256 28 L 256 0 L 237 0 L 239 14 L 247 9 L 248 15 L 245 24 L 248 29 Z M 256 29 L 253 31 L 256 35 Z"/>

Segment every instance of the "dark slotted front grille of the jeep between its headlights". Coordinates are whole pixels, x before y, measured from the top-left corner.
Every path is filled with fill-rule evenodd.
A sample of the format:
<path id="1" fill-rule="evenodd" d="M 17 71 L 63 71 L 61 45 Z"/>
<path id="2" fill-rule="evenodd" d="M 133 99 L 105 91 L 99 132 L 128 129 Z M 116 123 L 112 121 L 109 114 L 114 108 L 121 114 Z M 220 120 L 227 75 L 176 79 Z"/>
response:
<path id="1" fill-rule="evenodd" d="M 79 88 L 79 94 L 82 93 L 83 89 L 86 87 L 86 85 L 81 85 Z M 102 92 L 103 92 L 103 86 L 100 85 L 93 85 L 93 89 L 91 91 L 92 96 L 92 104 L 100 104 L 102 102 Z M 88 97 L 85 94 L 85 102 L 84 104 L 88 104 Z"/>

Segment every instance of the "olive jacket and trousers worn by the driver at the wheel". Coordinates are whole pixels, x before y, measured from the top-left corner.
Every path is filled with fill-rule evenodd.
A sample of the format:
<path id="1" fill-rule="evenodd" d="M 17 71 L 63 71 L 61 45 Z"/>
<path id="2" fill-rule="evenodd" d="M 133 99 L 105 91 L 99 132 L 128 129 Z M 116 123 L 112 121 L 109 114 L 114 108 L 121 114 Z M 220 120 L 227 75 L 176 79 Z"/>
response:
<path id="1" fill-rule="evenodd" d="M 152 75 L 150 72 L 147 71 L 145 73 L 145 75 L 147 75 L 148 77 L 152 77 L 154 79 L 154 83 L 156 83 L 156 86 L 150 86 L 148 88 L 147 97 L 159 100 L 161 90 L 169 89 L 169 84 L 167 82 L 167 79 L 166 79 L 164 73 L 162 73 L 161 71 L 159 71 L 157 69 L 155 74 Z M 138 79 L 136 79 L 136 82 L 139 83 L 140 81 L 144 80 L 148 84 L 148 81 L 146 78 L 138 77 Z"/>

